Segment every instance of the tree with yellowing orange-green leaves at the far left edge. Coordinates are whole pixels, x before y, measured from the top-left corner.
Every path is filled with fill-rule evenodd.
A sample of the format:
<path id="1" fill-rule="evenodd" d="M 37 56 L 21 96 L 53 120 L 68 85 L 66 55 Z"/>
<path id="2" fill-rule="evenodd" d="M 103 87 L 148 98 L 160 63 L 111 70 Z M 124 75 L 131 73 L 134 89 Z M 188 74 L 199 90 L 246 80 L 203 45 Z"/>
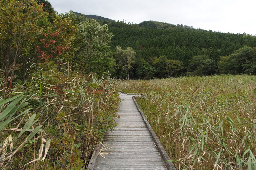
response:
<path id="1" fill-rule="evenodd" d="M 12 85 L 14 71 L 19 70 L 25 60 L 24 49 L 33 48 L 39 19 L 47 17 L 42 6 L 35 1 L 0 2 L 0 60 L 5 87 Z M 8 79 L 8 80 L 7 80 Z"/>

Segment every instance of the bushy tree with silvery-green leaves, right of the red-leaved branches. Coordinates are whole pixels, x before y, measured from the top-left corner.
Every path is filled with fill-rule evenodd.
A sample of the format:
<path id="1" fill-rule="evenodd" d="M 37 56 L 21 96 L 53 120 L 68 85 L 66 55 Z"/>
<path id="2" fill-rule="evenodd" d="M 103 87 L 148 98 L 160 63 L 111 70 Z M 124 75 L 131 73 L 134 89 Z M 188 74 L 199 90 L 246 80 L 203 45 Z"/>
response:
<path id="1" fill-rule="evenodd" d="M 109 43 L 112 34 L 107 25 L 100 25 L 94 19 L 81 21 L 78 24 L 76 40 L 76 62 L 80 71 L 102 74 L 113 67 Z"/>

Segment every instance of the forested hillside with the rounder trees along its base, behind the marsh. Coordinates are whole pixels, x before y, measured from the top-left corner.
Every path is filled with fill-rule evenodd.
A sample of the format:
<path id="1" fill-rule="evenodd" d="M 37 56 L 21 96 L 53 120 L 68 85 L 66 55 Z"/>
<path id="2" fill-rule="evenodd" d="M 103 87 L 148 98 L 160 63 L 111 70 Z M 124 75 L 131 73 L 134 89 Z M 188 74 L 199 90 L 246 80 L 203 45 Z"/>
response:
<path id="1" fill-rule="evenodd" d="M 110 47 L 113 52 L 116 46 L 121 46 L 123 49 L 131 47 L 135 51 L 133 68 L 130 71 L 131 78 L 148 79 L 185 74 L 255 73 L 255 69 L 246 71 L 242 67 L 240 70 L 232 68 L 233 71 L 223 69 L 222 59 L 225 58 L 226 61 L 227 57 L 222 56 L 229 56 L 244 46 L 248 46 L 246 48 L 251 50 L 254 48 L 250 47 L 256 46 L 256 37 L 246 33 L 213 32 L 194 29 L 187 25 L 156 21 L 144 21 L 140 24 L 113 20 L 99 22 L 108 24 L 110 32 L 114 35 Z M 248 62 L 253 63 L 255 50 L 252 51 L 254 51 L 250 52 L 252 61 L 248 59 Z M 114 58 L 118 63 L 119 58 L 115 55 Z M 222 62 L 218 64 L 220 61 Z M 237 60 L 237 62 L 233 64 L 237 65 L 240 61 Z M 122 67 L 117 67 L 116 76 L 125 77 Z"/>

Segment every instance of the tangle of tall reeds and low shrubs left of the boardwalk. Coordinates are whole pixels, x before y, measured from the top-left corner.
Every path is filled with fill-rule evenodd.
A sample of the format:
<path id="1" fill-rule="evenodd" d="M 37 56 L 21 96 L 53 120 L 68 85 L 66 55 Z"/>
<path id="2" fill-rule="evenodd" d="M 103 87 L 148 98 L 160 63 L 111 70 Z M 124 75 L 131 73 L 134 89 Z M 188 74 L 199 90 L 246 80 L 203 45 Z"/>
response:
<path id="1" fill-rule="evenodd" d="M 62 65 L 62 69 L 65 67 Z M 4 122 L 0 124 L 0 156 L 6 155 L 0 158 L 0 166 L 85 169 L 98 140 L 115 126 L 118 93 L 114 80 L 107 75 L 77 75 L 70 70 L 63 74 L 51 62 L 28 74 L 31 78 L 26 82 L 14 82 L 11 94 L 0 91 L 0 111 L 16 111 L 11 112 L 12 122 L 8 117 L 0 119 Z M 22 99 L 13 103 L 10 97 Z M 31 129 L 33 136 L 26 140 Z M 11 141 L 10 135 L 19 138 Z"/>

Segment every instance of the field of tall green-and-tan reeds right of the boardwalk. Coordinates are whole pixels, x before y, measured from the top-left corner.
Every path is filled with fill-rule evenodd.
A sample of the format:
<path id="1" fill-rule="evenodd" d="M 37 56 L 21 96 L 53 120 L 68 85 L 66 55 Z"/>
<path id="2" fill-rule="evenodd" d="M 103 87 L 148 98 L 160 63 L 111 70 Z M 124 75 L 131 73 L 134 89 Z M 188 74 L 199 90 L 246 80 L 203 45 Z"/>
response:
<path id="1" fill-rule="evenodd" d="M 256 76 L 117 81 L 137 102 L 177 169 L 255 169 Z"/>

